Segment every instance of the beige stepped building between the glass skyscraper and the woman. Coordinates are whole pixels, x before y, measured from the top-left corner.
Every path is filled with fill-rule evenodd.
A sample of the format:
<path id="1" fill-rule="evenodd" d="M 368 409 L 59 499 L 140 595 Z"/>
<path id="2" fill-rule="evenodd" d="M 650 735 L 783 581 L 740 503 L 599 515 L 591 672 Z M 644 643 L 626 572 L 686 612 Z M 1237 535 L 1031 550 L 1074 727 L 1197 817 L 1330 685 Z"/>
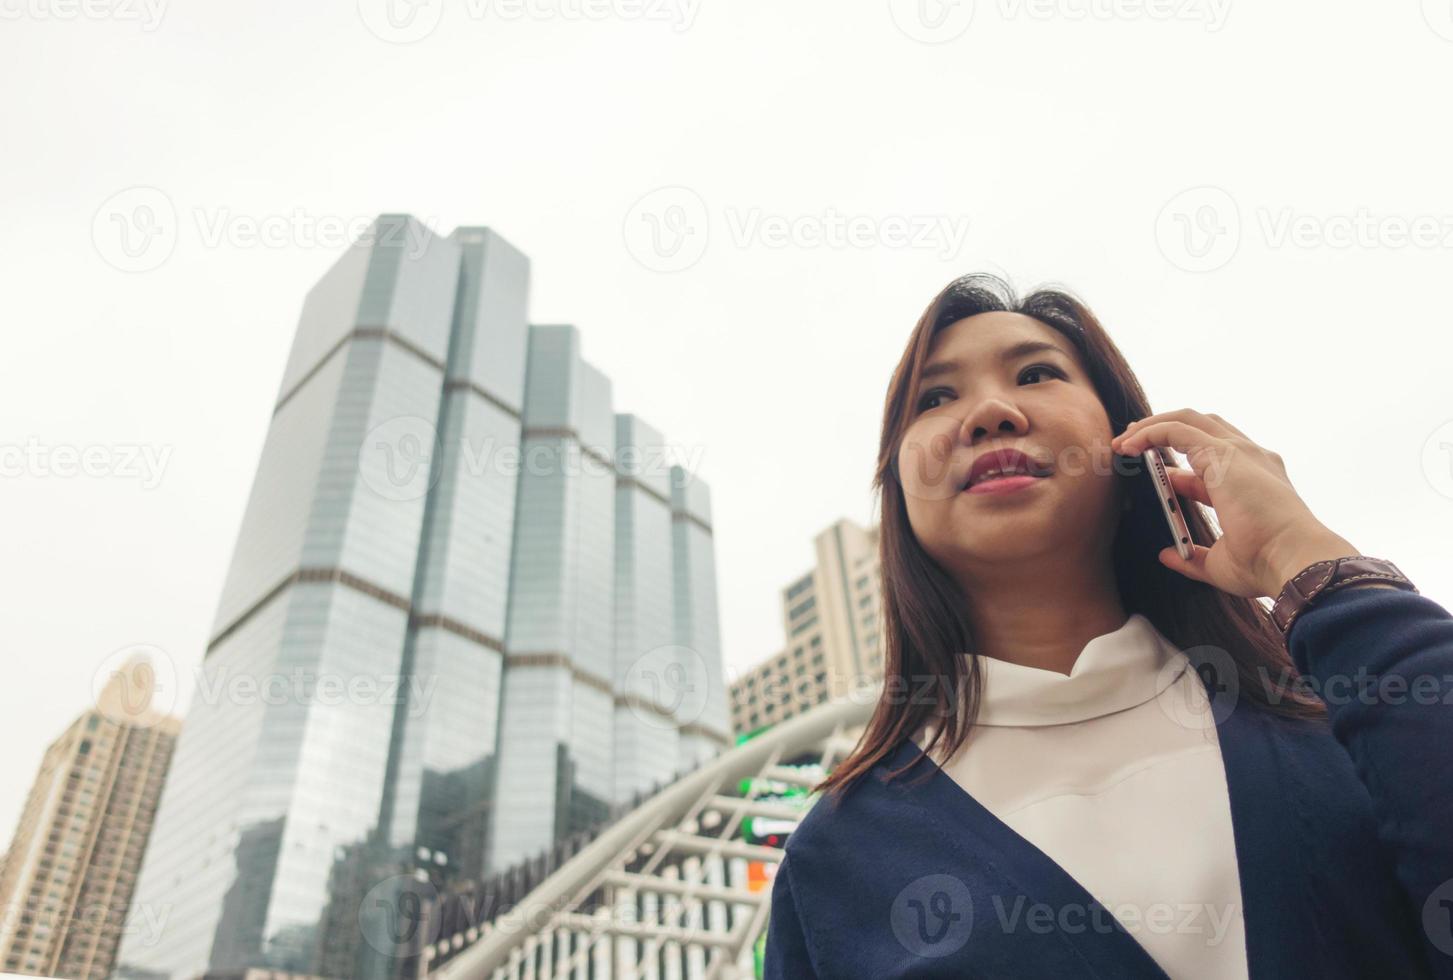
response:
<path id="1" fill-rule="evenodd" d="M 731 683 L 745 734 L 883 679 L 878 528 L 841 519 L 814 539 L 817 563 L 782 589 L 788 644 Z"/>

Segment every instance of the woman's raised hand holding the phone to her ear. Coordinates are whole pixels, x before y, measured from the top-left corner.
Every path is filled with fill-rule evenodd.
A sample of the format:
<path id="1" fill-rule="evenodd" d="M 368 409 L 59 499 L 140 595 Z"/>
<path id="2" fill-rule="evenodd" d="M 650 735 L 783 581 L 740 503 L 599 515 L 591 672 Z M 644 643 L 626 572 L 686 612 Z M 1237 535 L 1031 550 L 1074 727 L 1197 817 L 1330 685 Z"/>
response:
<path id="1" fill-rule="evenodd" d="M 1222 537 L 1191 544 L 1186 561 L 1174 547 L 1161 563 L 1237 596 L 1276 596 L 1298 571 L 1327 558 L 1360 554 L 1308 509 L 1287 480 L 1282 457 L 1263 449 L 1216 414 L 1159 411 L 1126 426 L 1114 452 L 1138 457 L 1151 446 L 1186 454 L 1191 468 L 1165 467 L 1171 487 L 1216 512 Z"/>

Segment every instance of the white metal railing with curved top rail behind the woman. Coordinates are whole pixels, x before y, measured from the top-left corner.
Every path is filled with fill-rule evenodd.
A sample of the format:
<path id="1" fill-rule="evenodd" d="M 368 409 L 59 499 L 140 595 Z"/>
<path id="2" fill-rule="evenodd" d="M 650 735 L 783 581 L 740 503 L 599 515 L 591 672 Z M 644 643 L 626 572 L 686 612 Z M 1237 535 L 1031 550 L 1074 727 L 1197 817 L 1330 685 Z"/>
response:
<path id="1" fill-rule="evenodd" d="M 708 760 L 509 909 L 434 929 L 424 970 L 445 980 L 753 976 L 782 861 L 770 840 L 785 838 L 760 827 L 802 817 L 815 801 L 806 790 L 851 752 L 875 702 L 876 692 L 857 691 Z"/>

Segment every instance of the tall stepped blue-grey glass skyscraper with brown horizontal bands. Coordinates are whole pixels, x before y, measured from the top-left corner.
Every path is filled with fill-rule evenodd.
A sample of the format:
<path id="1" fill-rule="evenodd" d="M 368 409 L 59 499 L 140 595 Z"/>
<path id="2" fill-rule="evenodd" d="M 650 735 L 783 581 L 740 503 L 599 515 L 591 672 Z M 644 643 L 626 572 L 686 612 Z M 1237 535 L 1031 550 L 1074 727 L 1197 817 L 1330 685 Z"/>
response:
<path id="1" fill-rule="evenodd" d="M 482 878 L 654 772 L 616 737 L 619 664 L 649 653 L 616 628 L 636 478 L 618 436 L 647 429 L 527 295 L 503 237 L 408 215 L 309 291 L 199 683 L 288 695 L 189 712 L 138 883 L 171 917 L 128 938 L 121 976 L 392 976 L 372 899 Z M 680 766 L 728 743 L 709 494 L 649 473 L 680 506 L 631 551 L 664 589 L 642 637 L 687 638 L 677 662 L 718 689 L 690 717 L 670 692 L 638 711 Z"/>

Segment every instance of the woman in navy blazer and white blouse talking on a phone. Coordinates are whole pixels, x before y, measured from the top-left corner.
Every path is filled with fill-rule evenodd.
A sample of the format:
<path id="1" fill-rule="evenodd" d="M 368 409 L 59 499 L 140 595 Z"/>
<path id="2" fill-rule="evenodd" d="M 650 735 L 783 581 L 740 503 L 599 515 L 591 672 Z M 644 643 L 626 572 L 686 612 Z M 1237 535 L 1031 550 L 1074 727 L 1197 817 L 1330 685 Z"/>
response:
<path id="1" fill-rule="evenodd" d="M 1190 560 L 1149 448 L 1190 462 Z M 966 276 L 873 487 L 885 683 L 788 840 L 769 980 L 1453 977 L 1453 616 L 1277 454 L 1151 414 L 1071 295 Z"/>

